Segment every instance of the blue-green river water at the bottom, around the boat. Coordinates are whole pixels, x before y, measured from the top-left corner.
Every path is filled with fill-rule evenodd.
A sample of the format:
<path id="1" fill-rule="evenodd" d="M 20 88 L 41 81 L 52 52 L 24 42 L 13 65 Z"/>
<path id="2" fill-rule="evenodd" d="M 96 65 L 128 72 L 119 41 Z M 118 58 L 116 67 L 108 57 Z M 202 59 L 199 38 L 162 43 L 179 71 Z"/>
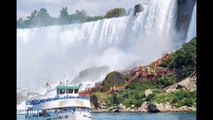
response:
<path id="1" fill-rule="evenodd" d="M 93 120 L 196 120 L 195 112 L 167 113 L 93 113 Z M 17 120 L 24 120 L 17 115 Z"/>

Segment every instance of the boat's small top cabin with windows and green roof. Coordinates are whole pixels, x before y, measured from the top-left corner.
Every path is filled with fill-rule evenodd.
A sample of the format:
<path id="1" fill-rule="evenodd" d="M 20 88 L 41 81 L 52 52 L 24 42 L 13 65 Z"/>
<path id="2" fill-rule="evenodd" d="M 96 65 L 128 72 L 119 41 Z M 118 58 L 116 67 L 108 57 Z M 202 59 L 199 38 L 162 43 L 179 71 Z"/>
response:
<path id="1" fill-rule="evenodd" d="M 59 85 L 56 87 L 57 95 L 59 97 L 64 97 L 64 96 L 77 97 L 79 96 L 79 88 L 80 86 Z"/>

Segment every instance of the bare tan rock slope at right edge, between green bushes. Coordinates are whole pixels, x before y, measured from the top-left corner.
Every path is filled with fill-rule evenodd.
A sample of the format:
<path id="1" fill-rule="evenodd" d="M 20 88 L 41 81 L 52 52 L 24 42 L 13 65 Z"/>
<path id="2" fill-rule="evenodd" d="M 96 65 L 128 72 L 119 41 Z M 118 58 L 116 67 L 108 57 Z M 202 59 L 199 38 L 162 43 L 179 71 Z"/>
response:
<path id="1" fill-rule="evenodd" d="M 168 86 L 164 88 L 163 90 L 165 90 L 166 93 L 175 92 L 182 89 L 194 91 L 196 90 L 196 85 L 197 85 L 196 81 L 197 81 L 197 77 L 196 75 L 194 75 L 193 77 L 188 77 L 185 80 L 182 80 L 174 85 Z"/>

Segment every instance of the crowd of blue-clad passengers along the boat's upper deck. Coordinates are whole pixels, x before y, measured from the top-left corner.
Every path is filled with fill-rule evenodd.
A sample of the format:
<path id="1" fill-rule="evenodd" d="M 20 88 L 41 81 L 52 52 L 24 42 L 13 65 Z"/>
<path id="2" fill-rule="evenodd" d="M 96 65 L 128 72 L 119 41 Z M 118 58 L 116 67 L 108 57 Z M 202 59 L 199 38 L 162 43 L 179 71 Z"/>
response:
<path id="1" fill-rule="evenodd" d="M 59 96 L 56 96 L 54 98 L 47 98 L 47 99 L 34 99 L 34 100 L 29 100 L 29 101 L 26 101 L 26 105 L 37 105 L 37 104 L 40 104 L 40 103 L 43 103 L 43 102 L 47 102 L 47 101 L 54 101 L 54 100 L 63 100 L 63 99 L 74 99 L 74 98 L 77 98 L 77 99 L 83 99 L 83 100 L 89 100 L 88 97 L 86 96 L 77 96 L 77 97 L 74 97 L 74 96 L 64 96 L 64 97 L 59 97 Z"/>

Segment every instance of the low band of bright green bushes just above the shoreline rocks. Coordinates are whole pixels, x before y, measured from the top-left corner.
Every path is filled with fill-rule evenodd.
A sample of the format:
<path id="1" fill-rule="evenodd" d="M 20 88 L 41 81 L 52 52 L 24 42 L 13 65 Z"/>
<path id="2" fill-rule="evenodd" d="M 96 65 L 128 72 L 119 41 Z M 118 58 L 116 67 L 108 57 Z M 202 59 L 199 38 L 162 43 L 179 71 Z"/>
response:
<path id="1" fill-rule="evenodd" d="M 108 106 L 116 106 L 120 103 L 126 107 L 140 107 L 144 102 L 148 103 L 171 103 L 172 106 L 196 106 L 196 91 L 180 90 L 165 93 L 161 89 L 151 89 L 152 94 L 145 96 L 145 90 L 141 87 L 127 89 L 112 94 L 108 98 Z"/>

